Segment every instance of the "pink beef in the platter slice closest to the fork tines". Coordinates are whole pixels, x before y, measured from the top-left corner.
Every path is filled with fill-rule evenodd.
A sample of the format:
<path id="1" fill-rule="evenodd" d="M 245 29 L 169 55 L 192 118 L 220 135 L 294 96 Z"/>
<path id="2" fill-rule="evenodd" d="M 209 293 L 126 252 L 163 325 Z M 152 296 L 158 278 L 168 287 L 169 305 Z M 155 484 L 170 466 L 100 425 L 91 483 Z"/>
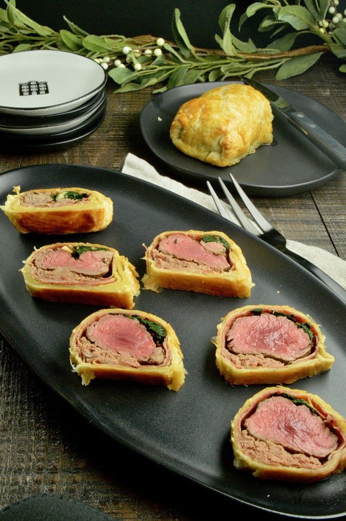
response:
<path id="1" fill-rule="evenodd" d="M 212 246 L 209 245 L 207 250 L 203 244 L 183 234 L 168 235 L 160 241 L 158 246 L 160 252 L 182 261 L 203 264 L 220 271 L 229 269 L 230 265 L 226 257 L 213 253 L 210 251 L 211 248 Z M 220 251 L 219 245 L 217 251 Z"/>

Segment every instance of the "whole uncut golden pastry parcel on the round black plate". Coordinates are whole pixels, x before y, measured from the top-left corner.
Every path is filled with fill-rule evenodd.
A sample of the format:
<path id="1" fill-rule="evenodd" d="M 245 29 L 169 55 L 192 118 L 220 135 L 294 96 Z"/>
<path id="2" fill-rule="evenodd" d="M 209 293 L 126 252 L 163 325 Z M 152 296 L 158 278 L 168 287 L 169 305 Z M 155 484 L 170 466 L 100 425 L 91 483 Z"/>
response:
<path id="1" fill-rule="evenodd" d="M 226 84 L 184 103 L 172 121 L 170 138 L 184 154 L 225 167 L 272 143 L 272 120 L 261 92 Z"/>

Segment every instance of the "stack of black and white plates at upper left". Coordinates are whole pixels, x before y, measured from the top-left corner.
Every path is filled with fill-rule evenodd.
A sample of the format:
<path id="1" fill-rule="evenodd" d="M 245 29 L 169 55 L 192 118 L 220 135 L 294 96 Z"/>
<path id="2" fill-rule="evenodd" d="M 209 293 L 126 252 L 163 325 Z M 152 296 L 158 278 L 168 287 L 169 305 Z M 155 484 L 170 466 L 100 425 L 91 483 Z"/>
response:
<path id="1" fill-rule="evenodd" d="M 106 115 L 107 75 L 96 61 L 62 51 L 0 56 L 2 152 L 61 150 Z"/>

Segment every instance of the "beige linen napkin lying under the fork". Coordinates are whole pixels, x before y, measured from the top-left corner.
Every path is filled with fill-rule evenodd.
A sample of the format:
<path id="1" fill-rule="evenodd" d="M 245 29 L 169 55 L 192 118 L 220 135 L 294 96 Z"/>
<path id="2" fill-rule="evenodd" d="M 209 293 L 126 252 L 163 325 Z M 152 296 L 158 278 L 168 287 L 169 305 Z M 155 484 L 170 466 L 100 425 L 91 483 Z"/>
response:
<path id="1" fill-rule="evenodd" d="M 210 195 L 204 194 L 194 188 L 188 188 L 184 184 L 175 181 L 166 176 L 161 176 L 155 168 L 153 168 L 144 159 L 134 154 L 127 154 L 122 162 L 121 170 L 130 176 L 144 179 L 156 186 L 170 190 L 175 194 L 186 197 L 189 201 L 204 206 L 217 213 L 214 202 Z M 336 280 L 340 286 L 346 289 L 346 262 L 321 248 L 316 246 L 308 246 L 297 241 L 287 240 L 287 247 L 292 252 L 298 253 L 308 261 L 321 268 L 330 277 Z"/>

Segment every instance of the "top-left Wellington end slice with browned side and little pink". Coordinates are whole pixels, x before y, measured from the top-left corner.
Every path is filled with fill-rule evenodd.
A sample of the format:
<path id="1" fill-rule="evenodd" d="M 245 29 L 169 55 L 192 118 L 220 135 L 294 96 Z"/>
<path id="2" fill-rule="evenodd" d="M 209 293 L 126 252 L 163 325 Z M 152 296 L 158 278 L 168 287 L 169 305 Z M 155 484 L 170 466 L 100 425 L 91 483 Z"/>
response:
<path id="1" fill-rule="evenodd" d="M 14 187 L 1 206 L 21 233 L 65 234 L 99 231 L 113 218 L 113 202 L 95 190 L 49 188 L 20 192 Z"/>

